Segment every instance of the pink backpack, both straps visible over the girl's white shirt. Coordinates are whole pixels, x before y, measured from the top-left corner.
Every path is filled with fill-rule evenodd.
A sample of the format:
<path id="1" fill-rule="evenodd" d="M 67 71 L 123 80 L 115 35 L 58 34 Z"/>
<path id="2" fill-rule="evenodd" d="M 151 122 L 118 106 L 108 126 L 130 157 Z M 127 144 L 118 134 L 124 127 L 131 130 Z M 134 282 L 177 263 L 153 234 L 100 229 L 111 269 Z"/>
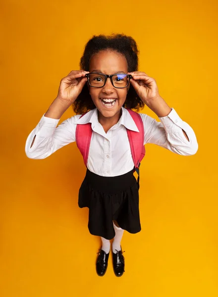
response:
<path id="1" fill-rule="evenodd" d="M 140 162 L 145 156 L 144 125 L 143 125 L 141 116 L 137 112 L 135 112 L 129 108 L 126 108 L 126 109 L 132 116 L 132 118 L 139 130 L 139 132 L 136 132 L 136 131 L 126 129 L 128 139 L 129 139 L 130 148 L 131 148 L 133 162 L 135 165 L 134 171 L 136 171 L 139 176 Z M 85 113 L 83 115 L 81 115 L 81 117 L 84 115 L 85 115 Z M 91 123 L 76 125 L 76 144 L 83 156 L 83 160 L 84 160 L 86 167 L 87 167 L 87 160 L 88 160 L 88 155 L 89 155 L 89 147 L 90 147 L 91 137 L 92 137 Z M 139 177 L 138 177 L 138 183 L 139 183 Z"/>

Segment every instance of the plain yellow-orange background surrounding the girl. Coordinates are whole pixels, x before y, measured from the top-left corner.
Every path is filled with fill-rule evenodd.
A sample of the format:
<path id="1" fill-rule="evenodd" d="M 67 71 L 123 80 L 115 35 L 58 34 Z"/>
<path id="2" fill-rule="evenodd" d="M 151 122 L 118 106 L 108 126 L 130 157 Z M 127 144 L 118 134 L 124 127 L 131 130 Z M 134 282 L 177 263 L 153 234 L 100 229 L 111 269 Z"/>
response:
<path id="1" fill-rule="evenodd" d="M 217 1 L 7 0 L 1 10 L 0 296 L 218 296 Z M 139 70 L 195 131 L 181 156 L 147 145 L 142 231 L 124 232 L 125 273 L 112 257 L 95 272 L 101 242 L 78 207 L 85 166 L 76 144 L 27 158 L 27 136 L 79 69 L 94 34 L 131 35 Z M 144 113 L 158 119 L 147 106 Z M 70 107 L 59 124 L 73 115 Z"/>

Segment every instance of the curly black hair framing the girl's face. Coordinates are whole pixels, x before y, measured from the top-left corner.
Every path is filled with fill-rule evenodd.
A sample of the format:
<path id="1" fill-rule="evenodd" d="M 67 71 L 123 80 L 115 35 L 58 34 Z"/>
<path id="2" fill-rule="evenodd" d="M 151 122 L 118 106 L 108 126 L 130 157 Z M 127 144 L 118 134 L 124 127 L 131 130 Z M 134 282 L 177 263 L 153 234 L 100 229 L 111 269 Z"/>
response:
<path id="1" fill-rule="evenodd" d="M 83 55 L 80 59 L 80 70 L 89 71 L 89 62 L 91 57 L 100 50 L 112 49 L 122 53 L 128 65 L 128 72 L 138 71 L 138 53 L 137 44 L 131 36 L 124 34 L 111 34 L 109 36 L 100 34 L 94 35 L 86 44 Z M 143 101 L 138 97 L 135 89 L 130 85 L 129 91 L 123 107 L 133 108 L 139 111 L 144 107 Z M 72 104 L 76 114 L 84 114 L 86 111 L 96 108 L 89 94 L 87 84 L 84 85 L 81 93 Z"/>

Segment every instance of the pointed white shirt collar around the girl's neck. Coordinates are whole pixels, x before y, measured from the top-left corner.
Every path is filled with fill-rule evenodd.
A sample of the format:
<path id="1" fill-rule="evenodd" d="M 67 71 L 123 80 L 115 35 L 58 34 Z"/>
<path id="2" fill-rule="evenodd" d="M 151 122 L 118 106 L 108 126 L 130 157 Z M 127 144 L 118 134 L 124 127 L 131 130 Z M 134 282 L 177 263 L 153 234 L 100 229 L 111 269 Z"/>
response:
<path id="1" fill-rule="evenodd" d="M 121 107 L 121 109 L 122 109 L 121 117 L 119 118 L 119 121 L 117 122 L 117 124 L 115 124 L 113 127 L 117 128 L 120 125 L 123 125 L 124 127 L 126 127 L 129 130 L 139 132 L 139 130 L 138 130 L 132 116 L 128 112 L 128 110 L 124 107 Z M 94 109 L 88 111 L 83 117 L 77 119 L 74 123 L 75 124 L 92 123 L 92 126 L 95 124 L 100 124 L 98 121 L 98 109 L 94 108 Z"/>

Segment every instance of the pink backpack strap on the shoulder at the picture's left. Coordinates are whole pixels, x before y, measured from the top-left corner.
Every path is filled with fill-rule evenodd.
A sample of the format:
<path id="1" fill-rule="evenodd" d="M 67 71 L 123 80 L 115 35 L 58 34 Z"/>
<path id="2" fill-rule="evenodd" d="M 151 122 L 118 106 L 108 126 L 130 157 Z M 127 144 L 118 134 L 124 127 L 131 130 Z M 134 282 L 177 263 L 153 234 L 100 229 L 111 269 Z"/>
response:
<path id="1" fill-rule="evenodd" d="M 82 114 L 81 117 L 84 116 L 86 113 Z M 91 137 L 92 137 L 91 123 L 76 125 L 76 145 L 83 156 L 83 160 L 86 166 L 87 166 L 87 161 L 89 156 Z"/>

